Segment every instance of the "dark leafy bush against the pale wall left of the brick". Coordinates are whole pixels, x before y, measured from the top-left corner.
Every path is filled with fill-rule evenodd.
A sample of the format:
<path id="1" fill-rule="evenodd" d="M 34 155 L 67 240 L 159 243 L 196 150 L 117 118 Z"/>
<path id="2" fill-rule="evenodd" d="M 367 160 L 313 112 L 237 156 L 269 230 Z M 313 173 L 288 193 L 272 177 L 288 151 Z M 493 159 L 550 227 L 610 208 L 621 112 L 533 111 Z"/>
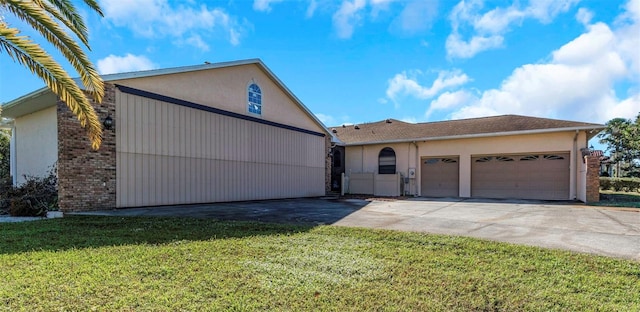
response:
<path id="1" fill-rule="evenodd" d="M 0 208 L 4 206 L 12 216 L 34 217 L 46 216 L 47 211 L 58 210 L 55 166 L 45 177 L 25 176 L 25 179 L 20 186 L 9 186 L 5 192 L 0 193 Z"/>

